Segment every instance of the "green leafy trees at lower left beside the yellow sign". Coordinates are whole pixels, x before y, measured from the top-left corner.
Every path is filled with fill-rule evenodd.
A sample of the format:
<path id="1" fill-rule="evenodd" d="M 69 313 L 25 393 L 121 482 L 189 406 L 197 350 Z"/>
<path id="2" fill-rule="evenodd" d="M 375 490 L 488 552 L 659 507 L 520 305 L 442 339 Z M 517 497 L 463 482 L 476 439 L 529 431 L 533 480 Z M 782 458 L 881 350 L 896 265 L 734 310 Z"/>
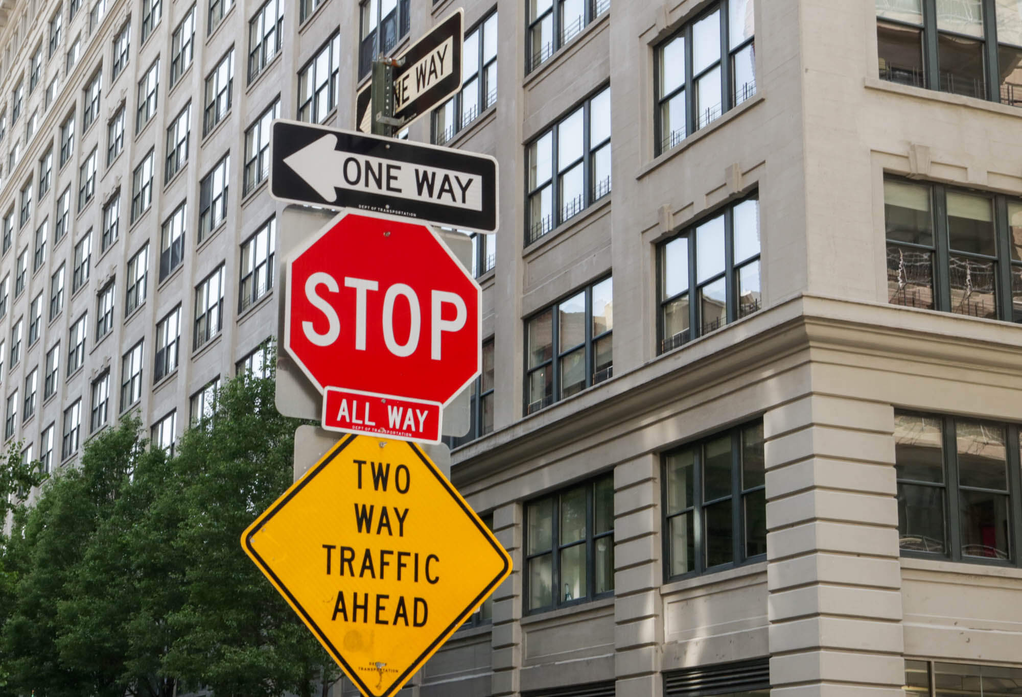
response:
<path id="1" fill-rule="evenodd" d="M 273 379 L 230 380 L 170 457 L 125 418 L 43 482 L 0 461 L 0 697 L 319 694 L 336 666 L 244 555 L 291 482 Z M 6 494 L 42 483 L 32 506 Z"/>

